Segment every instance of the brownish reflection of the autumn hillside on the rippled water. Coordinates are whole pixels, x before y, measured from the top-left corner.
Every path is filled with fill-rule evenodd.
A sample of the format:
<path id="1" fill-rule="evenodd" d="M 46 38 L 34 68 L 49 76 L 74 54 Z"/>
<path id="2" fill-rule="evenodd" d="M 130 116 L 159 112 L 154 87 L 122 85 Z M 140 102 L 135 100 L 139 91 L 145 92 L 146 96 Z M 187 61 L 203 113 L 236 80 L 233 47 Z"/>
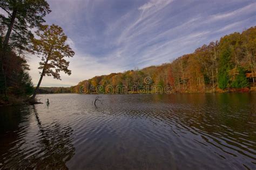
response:
<path id="1" fill-rule="evenodd" d="M 134 133 L 139 133 L 146 138 L 153 137 L 154 139 L 147 138 L 147 140 L 151 142 L 157 140 L 158 144 L 155 146 L 159 147 L 160 143 L 170 140 L 172 146 L 160 145 L 160 147 L 179 148 L 184 145 L 186 149 L 180 148 L 179 151 L 172 151 L 174 154 L 178 155 L 180 151 L 186 154 L 193 152 L 193 149 L 189 147 L 191 145 L 197 147 L 199 152 L 203 152 L 200 154 L 207 155 L 210 159 L 227 161 L 219 167 L 253 169 L 256 164 L 254 96 L 254 94 L 148 95 L 137 96 L 137 98 L 114 96 L 113 98 L 118 101 L 119 105 L 116 105 L 117 102 L 114 102 L 116 100 L 113 100 L 110 102 L 114 105 L 113 107 L 104 105 L 97 108 L 97 112 L 115 117 L 126 116 L 132 121 L 139 119 L 140 124 L 136 125 L 137 131 Z M 123 98 L 124 101 L 118 98 Z M 150 123 L 152 125 L 149 125 Z M 131 124 L 125 125 L 126 123 L 123 124 L 122 129 L 131 126 Z M 173 134 L 181 139 L 173 137 Z M 140 137 L 136 139 L 139 140 L 138 138 Z M 210 154 L 208 149 L 219 158 Z M 186 161 L 196 160 L 186 156 Z M 197 160 L 201 166 L 206 162 Z M 207 166 L 207 168 L 214 169 L 212 164 Z M 187 166 L 187 168 L 190 167 Z"/>

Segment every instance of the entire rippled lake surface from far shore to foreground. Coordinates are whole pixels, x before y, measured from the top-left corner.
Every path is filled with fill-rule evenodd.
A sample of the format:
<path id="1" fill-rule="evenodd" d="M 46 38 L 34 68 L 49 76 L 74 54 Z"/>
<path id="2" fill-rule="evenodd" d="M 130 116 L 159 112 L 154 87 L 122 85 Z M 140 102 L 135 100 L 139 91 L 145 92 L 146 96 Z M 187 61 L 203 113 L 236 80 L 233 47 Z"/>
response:
<path id="1" fill-rule="evenodd" d="M 0 108 L 0 169 L 254 169 L 256 94 L 39 95 Z"/>

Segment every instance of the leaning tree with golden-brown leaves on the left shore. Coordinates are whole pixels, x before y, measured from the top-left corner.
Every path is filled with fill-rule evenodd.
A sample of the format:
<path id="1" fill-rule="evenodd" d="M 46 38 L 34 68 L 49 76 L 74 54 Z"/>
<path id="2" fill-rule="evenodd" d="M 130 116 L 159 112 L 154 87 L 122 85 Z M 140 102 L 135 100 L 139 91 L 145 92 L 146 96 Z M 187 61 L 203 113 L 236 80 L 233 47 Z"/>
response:
<path id="1" fill-rule="evenodd" d="M 41 77 L 32 98 L 35 98 L 37 90 L 40 87 L 43 76 L 53 76 L 54 79 L 60 79 L 60 71 L 70 75 L 71 70 L 68 69 L 69 61 L 65 57 L 72 57 L 75 52 L 69 45 L 66 45 L 67 36 L 63 33 L 61 27 L 57 25 L 42 25 L 36 35 L 39 39 L 32 39 L 33 51 L 38 54 L 42 62 L 39 62 L 38 69 L 42 69 Z"/>

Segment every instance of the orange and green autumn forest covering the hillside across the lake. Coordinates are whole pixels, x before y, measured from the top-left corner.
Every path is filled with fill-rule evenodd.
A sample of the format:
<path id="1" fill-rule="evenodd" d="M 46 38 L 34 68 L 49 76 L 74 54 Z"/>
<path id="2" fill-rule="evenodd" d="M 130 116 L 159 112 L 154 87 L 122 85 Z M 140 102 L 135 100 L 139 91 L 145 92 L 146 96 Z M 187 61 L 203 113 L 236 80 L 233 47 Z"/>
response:
<path id="1" fill-rule="evenodd" d="M 221 37 L 170 63 L 95 76 L 70 90 L 71 93 L 104 93 L 110 85 L 113 90 L 125 86 L 128 92 L 135 93 L 146 86 L 169 86 L 172 93 L 255 91 L 255 61 L 256 26 Z M 150 82 L 145 82 L 146 77 L 150 77 Z"/>

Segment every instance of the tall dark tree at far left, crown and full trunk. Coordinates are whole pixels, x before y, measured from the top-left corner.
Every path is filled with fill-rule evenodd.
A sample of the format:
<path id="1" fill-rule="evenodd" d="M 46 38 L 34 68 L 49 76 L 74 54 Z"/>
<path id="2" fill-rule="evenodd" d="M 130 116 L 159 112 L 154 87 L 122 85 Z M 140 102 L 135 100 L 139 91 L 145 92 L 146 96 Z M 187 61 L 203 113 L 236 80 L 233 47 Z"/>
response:
<path id="1" fill-rule="evenodd" d="M 6 59 L 6 55 L 11 50 L 16 50 L 20 54 L 26 49 L 30 37 L 33 36 L 30 30 L 45 22 L 43 17 L 50 12 L 50 9 L 45 0 L 2 0 L 0 1 L 0 8 L 6 13 L 6 15 L 0 14 L 3 34 L 0 67 L 1 79 L 4 82 L 4 95 L 7 98 L 6 72 L 8 72 L 7 69 L 11 60 Z"/>

